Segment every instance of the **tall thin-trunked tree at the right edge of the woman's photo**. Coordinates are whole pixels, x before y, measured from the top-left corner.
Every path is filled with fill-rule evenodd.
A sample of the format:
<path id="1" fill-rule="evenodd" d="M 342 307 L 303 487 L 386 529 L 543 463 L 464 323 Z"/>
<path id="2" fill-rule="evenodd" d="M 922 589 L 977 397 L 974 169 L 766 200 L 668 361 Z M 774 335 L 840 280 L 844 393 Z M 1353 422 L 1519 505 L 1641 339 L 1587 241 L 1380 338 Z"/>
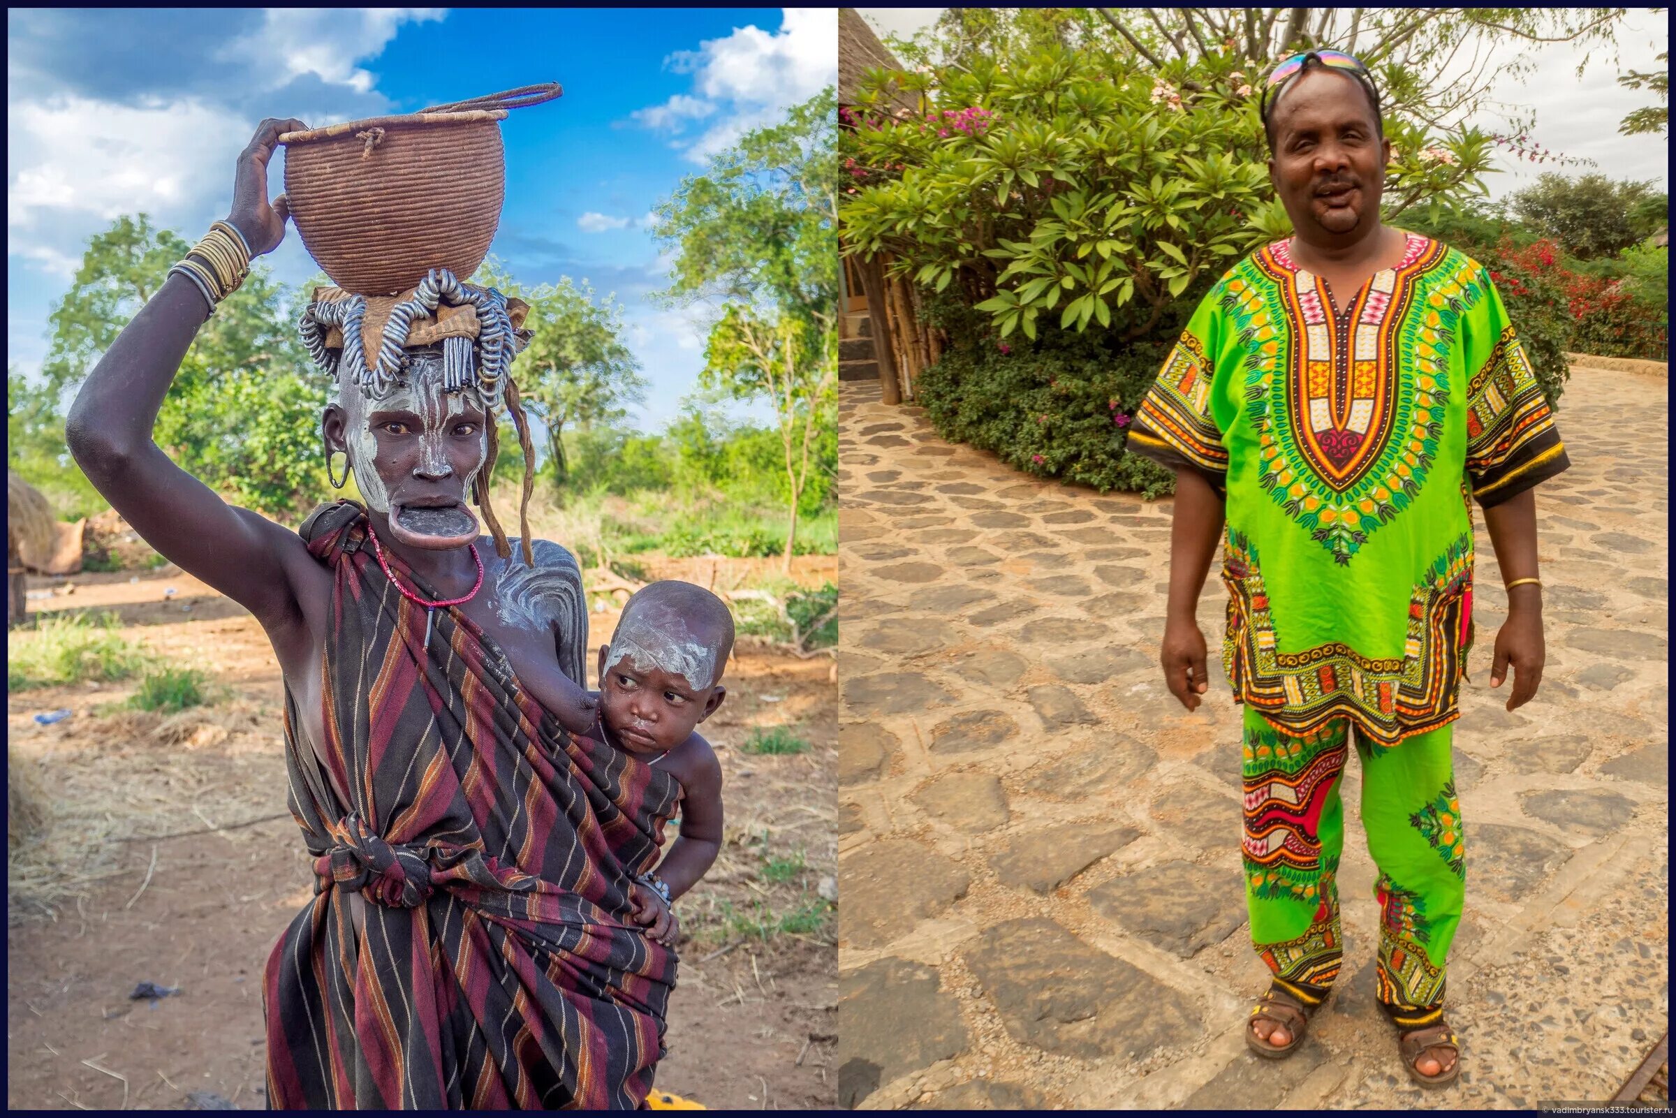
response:
<path id="1" fill-rule="evenodd" d="M 828 469 L 818 431 L 836 422 L 836 107 L 828 85 L 784 122 L 746 132 L 682 179 L 654 226 L 675 253 L 664 298 L 717 313 L 706 382 L 774 407 L 791 511 L 786 570 L 811 469 Z"/>

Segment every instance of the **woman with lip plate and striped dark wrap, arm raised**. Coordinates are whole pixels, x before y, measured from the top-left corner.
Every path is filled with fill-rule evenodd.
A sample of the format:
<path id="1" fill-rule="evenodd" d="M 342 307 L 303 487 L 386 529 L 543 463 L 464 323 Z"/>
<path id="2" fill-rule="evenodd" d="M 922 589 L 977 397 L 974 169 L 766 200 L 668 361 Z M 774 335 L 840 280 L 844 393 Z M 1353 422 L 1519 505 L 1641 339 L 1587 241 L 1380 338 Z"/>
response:
<path id="1" fill-rule="evenodd" d="M 283 672 L 315 897 L 263 976 L 268 1103 L 642 1106 L 675 955 L 635 922 L 625 865 L 677 784 L 572 736 L 598 711 L 580 572 L 528 530 L 508 541 L 488 506 L 494 409 L 523 427 L 506 377 L 523 307 L 441 270 L 394 300 L 317 292 L 303 339 L 339 384 L 327 468 L 344 453 L 365 506 L 322 506 L 300 533 L 153 443 L 194 334 L 285 235 L 266 164 L 303 127 L 261 122 L 231 215 L 111 345 L 65 432 L 147 543 L 255 613 Z"/>

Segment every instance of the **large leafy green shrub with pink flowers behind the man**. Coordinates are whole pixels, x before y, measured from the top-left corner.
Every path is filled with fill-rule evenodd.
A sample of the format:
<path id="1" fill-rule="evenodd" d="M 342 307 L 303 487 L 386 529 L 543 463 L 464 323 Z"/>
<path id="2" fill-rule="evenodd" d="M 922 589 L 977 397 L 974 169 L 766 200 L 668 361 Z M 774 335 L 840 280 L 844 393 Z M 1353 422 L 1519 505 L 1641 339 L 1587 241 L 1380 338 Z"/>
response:
<path id="1" fill-rule="evenodd" d="M 935 97 L 918 117 L 892 112 L 888 80 Z M 959 310 L 929 315 L 950 345 L 917 386 L 942 434 L 1098 489 L 1172 489 L 1125 453 L 1126 419 L 1210 285 L 1291 233 L 1255 80 L 1215 49 L 1158 70 L 1061 47 L 863 79 L 846 241 Z M 1440 137 L 1393 111 L 1384 131 L 1391 221 L 1463 198 L 1488 169 L 1492 137 L 1475 129 Z"/>

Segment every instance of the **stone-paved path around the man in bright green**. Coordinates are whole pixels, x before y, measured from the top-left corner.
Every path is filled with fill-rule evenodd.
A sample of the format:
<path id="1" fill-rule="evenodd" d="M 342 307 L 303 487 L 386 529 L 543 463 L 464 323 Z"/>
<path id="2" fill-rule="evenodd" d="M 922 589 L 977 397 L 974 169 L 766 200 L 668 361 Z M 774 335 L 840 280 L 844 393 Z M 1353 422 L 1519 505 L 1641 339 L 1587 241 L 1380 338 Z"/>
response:
<path id="1" fill-rule="evenodd" d="M 1507 608 L 1478 525 L 1456 734 L 1463 1071 L 1410 1083 L 1373 1004 L 1359 766 L 1346 967 L 1262 1061 L 1239 858 L 1239 707 L 1156 669 L 1170 503 L 1044 483 L 843 386 L 840 1095 L 865 1108 L 1534 1108 L 1606 1100 L 1668 1019 L 1668 382 L 1577 369 L 1539 489 L 1549 665 L 1488 687 Z M 1215 568 L 1213 568 L 1215 570 Z M 1200 625 L 1212 655 L 1223 590 Z"/>

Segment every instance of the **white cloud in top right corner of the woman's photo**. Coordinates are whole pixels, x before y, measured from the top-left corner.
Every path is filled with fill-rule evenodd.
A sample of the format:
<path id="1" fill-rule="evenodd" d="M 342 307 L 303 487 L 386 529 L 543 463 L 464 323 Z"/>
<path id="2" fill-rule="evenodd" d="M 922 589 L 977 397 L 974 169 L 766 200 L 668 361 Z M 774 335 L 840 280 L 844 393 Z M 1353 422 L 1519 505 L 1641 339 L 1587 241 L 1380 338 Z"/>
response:
<path id="1" fill-rule="evenodd" d="M 783 8 L 776 32 L 736 27 L 729 35 L 701 42 L 697 50 L 672 54 L 669 67 L 691 74 L 694 92 L 675 94 L 630 116 L 647 127 L 677 134 L 689 122 L 711 121 L 697 137 L 670 144 L 692 163 L 704 163 L 744 132 L 778 121 L 784 109 L 836 84 L 835 42 L 836 8 Z M 721 112 L 721 106 L 729 111 Z"/>

